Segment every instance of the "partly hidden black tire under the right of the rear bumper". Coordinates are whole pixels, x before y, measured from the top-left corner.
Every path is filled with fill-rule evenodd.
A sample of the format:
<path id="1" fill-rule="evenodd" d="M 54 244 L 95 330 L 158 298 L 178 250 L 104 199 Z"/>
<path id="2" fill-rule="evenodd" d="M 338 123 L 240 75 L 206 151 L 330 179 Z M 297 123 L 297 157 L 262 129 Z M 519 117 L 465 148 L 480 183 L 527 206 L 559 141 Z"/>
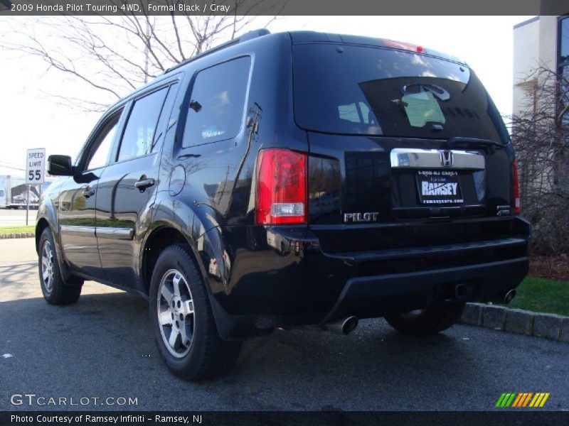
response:
<path id="1" fill-rule="evenodd" d="M 437 334 L 452 327 L 462 315 L 464 303 L 451 305 L 438 305 L 427 307 L 422 312 L 413 312 L 385 315 L 385 320 L 391 327 L 403 334 L 412 336 L 426 336 Z"/>

